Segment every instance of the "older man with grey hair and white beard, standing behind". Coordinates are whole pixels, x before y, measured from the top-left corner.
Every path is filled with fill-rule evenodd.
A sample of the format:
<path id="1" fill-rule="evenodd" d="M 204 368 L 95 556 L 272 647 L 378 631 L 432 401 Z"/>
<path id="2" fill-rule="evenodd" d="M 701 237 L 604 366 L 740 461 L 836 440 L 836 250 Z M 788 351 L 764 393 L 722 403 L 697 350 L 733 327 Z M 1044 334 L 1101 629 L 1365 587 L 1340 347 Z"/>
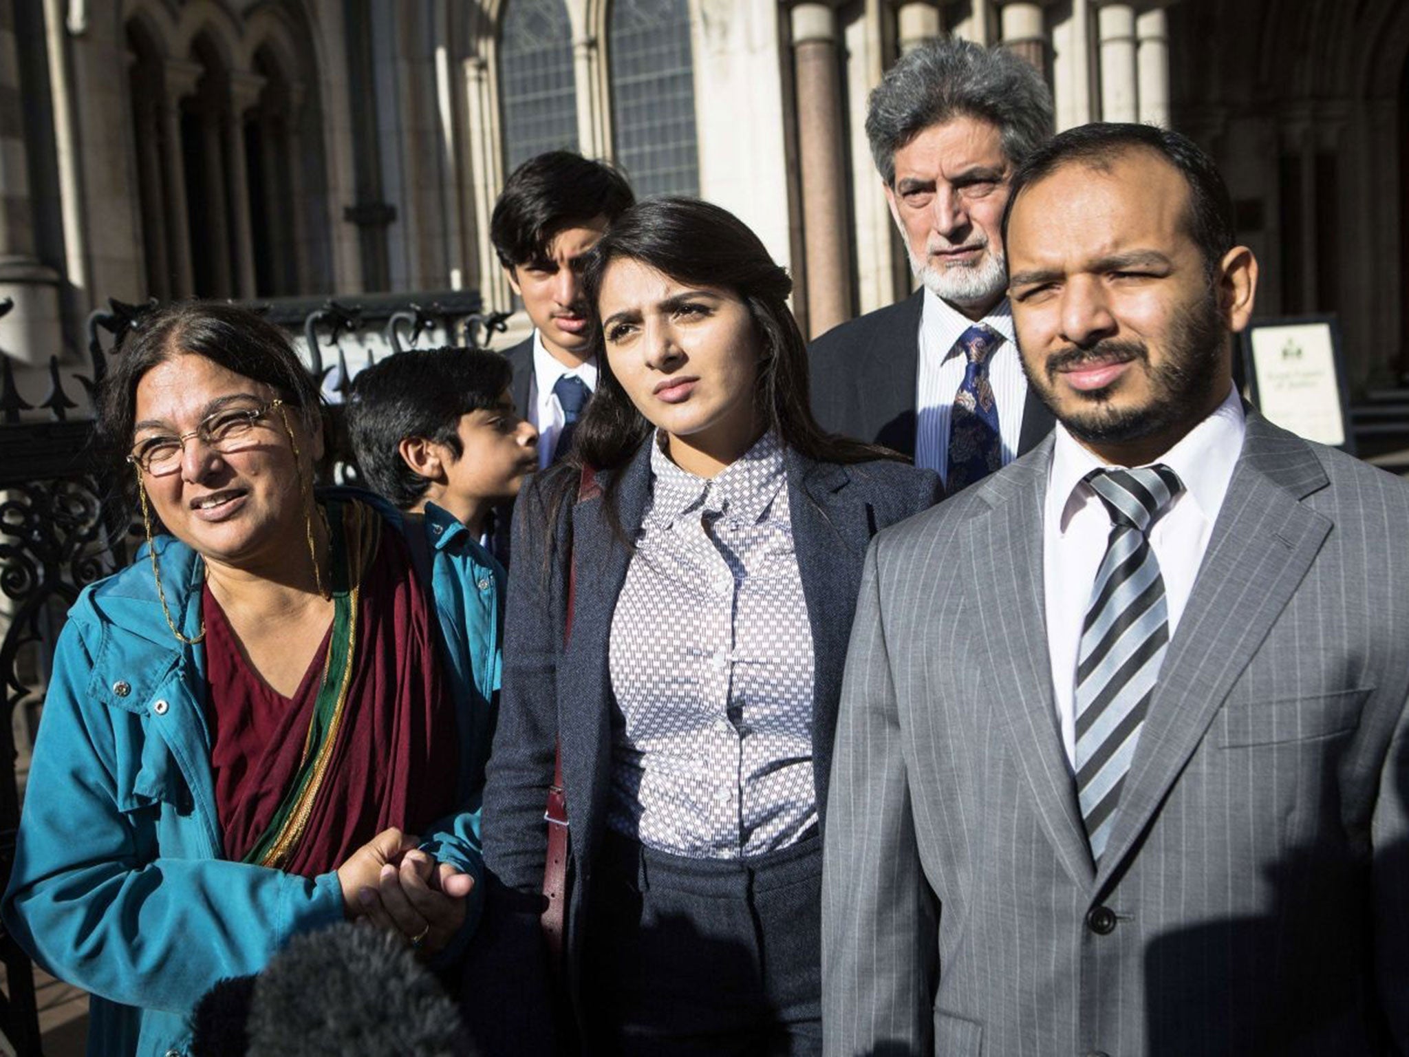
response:
<path id="1" fill-rule="evenodd" d="M 968 41 L 916 48 L 871 93 L 871 154 L 921 286 L 813 342 L 813 410 L 951 495 L 1051 430 L 1017 358 L 999 233 L 1007 179 L 1051 128 L 1037 70 Z"/>

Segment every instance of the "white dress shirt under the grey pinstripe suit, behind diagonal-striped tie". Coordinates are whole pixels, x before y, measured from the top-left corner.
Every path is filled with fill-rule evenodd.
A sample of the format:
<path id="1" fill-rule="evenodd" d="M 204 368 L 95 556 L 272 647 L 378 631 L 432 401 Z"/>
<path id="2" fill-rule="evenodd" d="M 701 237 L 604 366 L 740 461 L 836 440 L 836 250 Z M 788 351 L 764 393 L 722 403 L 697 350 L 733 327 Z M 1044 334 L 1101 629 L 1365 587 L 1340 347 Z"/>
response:
<path id="1" fill-rule="evenodd" d="M 1155 459 L 1184 482 L 1184 490 L 1150 528 L 1150 548 L 1164 579 L 1171 641 L 1193 591 L 1246 433 L 1243 402 L 1233 389 L 1213 414 Z M 1106 464 L 1078 444 L 1061 423 L 1055 437 L 1043 513 L 1043 591 L 1057 719 L 1067 760 L 1075 772 L 1076 653 L 1091 586 L 1106 555 L 1110 514 L 1091 485 L 1082 481 Z"/>

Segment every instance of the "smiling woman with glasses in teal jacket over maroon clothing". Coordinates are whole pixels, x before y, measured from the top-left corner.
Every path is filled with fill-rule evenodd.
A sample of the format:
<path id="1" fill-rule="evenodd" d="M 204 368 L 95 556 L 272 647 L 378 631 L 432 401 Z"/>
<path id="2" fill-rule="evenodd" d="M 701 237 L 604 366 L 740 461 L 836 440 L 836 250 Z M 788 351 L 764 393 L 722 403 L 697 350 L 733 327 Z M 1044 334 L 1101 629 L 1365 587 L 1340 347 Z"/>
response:
<path id="1" fill-rule="evenodd" d="M 93 1054 L 185 1051 L 213 984 L 342 917 L 449 960 L 476 916 L 502 571 L 427 517 L 426 585 L 393 509 L 314 499 L 317 390 L 248 311 L 147 319 L 100 420 L 148 545 L 59 638 L 6 926 L 92 992 Z"/>

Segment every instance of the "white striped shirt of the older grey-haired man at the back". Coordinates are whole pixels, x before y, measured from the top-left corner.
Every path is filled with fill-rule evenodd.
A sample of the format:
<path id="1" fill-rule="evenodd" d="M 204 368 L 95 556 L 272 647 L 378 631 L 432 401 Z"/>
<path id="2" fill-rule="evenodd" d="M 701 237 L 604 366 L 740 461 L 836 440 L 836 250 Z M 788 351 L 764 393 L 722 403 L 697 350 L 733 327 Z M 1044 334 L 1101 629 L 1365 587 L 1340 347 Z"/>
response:
<path id="1" fill-rule="evenodd" d="M 1017 337 L 1007 299 L 995 304 L 979 323 L 1003 337 L 1003 344 L 988 358 L 988 383 L 998 402 L 998 431 L 1006 466 L 1017 454 L 1017 441 L 1023 433 L 1023 403 L 1027 400 L 1027 379 L 1017 357 Z M 958 309 L 930 290 L 924 292 L 924 309 L 920 311 L 920 369 L 916 372 L 914 465 L 933 469 L 943 479 L 948 479 L 950 471 L 954 395 L 964 383 L 964 368 L 968 365 L 955 342 L 972 326 L 974 320 Z"/>

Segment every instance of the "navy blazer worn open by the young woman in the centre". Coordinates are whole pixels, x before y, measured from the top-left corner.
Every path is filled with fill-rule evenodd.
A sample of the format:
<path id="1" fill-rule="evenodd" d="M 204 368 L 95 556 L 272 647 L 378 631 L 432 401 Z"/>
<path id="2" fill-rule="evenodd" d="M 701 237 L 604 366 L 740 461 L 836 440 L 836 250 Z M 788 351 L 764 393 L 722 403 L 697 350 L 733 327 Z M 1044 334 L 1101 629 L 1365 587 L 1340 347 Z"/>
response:
<path id="1" fill-rule="evenodd" d="M 816 655 L 813 774 L 820 810 L 827 796 L 841 667 L 867 545 L 879 528 L 938 502 L 943 489 L 931 471 L 898 462 L 843 466 L 813 462 L 792 451 L 785 459 Z M 514 517 L 504 681 L 485 788 L 485 925 L 466 987 L 472 1023 L 479 1020 L 478 1026 L 488 1029 L 480 1041 L 490 1054 L 548 1053 L 538 1049 L 544 1040 L 534 1033 L 541 1033 L 551 1018 L 541 1005 L 537 1010 L 531 1006 L 534 996 L 545 994 L 537 894 L 547 851 L 544 803 L 559 737 L 571 834 L 566 950 L 573 998 L 583 908 L 593 892 L 593 851 L 606 827 L 613 709 L 607 638 L 631 548 L 612 530 L 600 496 L 565 502 L 557 516 L 550 513 L 547 496 L 554 485 L 575 495 L 576 481 L 564 481 L 569 472 L 559 468 L 534 481 L 520 495 Z M 630 538 L 650 497 L 650 443 L 617 472 L 619 512 Z M 610 474 L 599 479 L 606 488 Z M 572 638 L 564 648 L 569 547 L 576 596 Z M 504 1032 L 503 1049 L 490 1037 L 499 1032 Z"/>

